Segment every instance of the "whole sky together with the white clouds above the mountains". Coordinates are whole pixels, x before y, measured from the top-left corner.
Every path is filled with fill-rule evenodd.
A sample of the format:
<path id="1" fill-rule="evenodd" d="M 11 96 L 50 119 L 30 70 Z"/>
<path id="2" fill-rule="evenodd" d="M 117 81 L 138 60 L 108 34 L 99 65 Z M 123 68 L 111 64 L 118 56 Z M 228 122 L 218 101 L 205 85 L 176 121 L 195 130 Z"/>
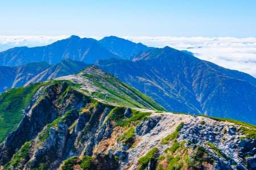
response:
<path id="1" fill-rule="evenodd" d="M 0 51 L 46 45 L 70 35 L 114 35 L 189 50 L 256 77 L 255 8 L 254 0 L 2 1 Z"/>

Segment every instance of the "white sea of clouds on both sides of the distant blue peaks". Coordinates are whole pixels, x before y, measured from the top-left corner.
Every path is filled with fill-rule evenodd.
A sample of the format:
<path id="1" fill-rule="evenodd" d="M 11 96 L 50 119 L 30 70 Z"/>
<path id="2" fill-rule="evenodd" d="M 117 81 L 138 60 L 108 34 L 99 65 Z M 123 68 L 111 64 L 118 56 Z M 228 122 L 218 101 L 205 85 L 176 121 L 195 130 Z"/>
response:
<path id="1" fill-rule="evenodd" d="M 0 51 L 14 46 L 40 46 L 68 36 L 0 36 Z M 94 37 L 100 39 L 101 37 Z M 256 77 L 256 38 L 235 37 L 133 37 L 125 39 L 148 46 L 171 46 L 188 50 L 196 57 Z"/>

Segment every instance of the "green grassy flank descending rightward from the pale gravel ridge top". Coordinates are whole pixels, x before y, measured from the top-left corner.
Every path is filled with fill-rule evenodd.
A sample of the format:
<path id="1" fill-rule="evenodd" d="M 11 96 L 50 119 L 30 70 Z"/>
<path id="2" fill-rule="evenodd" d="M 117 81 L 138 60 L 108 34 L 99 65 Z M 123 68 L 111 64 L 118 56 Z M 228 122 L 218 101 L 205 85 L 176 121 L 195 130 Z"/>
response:
<path id="1" fill-rule="evenodd" d="M 92 94 L 99 99 L 134 108 L 150 108 L 158 111 L 166 111 L 161 105 L 156 103 L 156 101 L 152 100 L 150 97 L 121 82 L 121 80 L 110 74 L 80 74 L 82 74 L 82 76 L 84 76 L 86 79 L 90 80 L 94 86 L 101 89 L 101 92 L 94 92 Z M 104 92 L 108 92 L 109 95 L 102 95 Z"/>

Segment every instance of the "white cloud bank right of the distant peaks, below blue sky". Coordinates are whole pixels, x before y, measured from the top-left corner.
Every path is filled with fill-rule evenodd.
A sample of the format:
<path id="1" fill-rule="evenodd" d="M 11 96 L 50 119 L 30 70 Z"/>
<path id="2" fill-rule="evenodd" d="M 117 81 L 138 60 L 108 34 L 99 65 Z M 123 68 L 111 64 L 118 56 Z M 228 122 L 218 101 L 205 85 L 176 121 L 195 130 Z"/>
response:
<path id="1" fill-rule="evenodd" d="M 256 77 L 256 38 L 235 37 L 123 37 L 148 46 L 171 46 L 196 57 Z M 189 48 L 189 49 L 188 49 Z"/>

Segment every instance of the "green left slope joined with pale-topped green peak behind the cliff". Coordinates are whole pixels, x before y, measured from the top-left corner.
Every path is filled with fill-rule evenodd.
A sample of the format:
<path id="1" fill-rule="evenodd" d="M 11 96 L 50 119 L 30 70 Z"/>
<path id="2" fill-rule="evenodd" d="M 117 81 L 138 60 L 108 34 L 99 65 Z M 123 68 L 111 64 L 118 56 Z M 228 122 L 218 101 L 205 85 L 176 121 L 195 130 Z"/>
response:
<path id="1" fill-rule="evenodd" d="M 76 90 L 81 95 L 90 96 L 107 104 L 164 111 L 164 108 L 150 99 L 150 97 L 143 95 L 117 78 L 104 73 L 97 67 L 90 66 L 77 75 L 63 76 L 49 82 L 32 83 L 27 87 L 13 88 L 1 94 L 0 127 L 2 133 L 0 134 L 0 142 L 3 141 L 7 133 L 18 126 L 23 114 L 27 109 L 30 109 L 29 105 L 37 104 L 36 99 L 32 96 L 45 97 L 42 95 L 44 90 L 40 90 L 36 94 L 40 87 L 48 88 L 49 86 L 53 88 L 61 83 L 65 84 L 65 91 L 61 94 L 63 98 L 68 97 L 68 91 Z M 58 102 L 61 102 L 61 100 Z"/>

